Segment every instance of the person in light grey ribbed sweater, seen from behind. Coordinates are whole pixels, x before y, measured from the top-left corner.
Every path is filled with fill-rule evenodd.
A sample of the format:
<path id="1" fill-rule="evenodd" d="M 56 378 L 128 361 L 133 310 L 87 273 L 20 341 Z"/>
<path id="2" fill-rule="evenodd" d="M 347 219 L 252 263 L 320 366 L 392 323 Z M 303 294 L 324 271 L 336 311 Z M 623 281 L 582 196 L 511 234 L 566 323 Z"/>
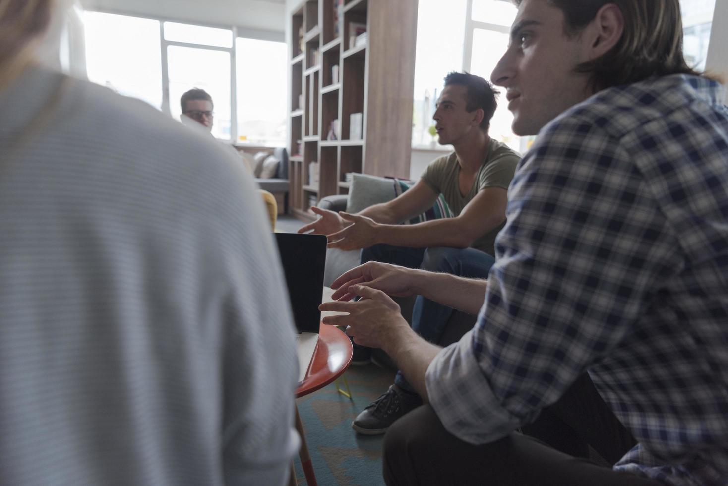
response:
<path id="1" fill-rule="evenodd" d="M 282 485 L 293 319 L 239 161 L 47 71 L 0 3 L 0 484 Z"/>

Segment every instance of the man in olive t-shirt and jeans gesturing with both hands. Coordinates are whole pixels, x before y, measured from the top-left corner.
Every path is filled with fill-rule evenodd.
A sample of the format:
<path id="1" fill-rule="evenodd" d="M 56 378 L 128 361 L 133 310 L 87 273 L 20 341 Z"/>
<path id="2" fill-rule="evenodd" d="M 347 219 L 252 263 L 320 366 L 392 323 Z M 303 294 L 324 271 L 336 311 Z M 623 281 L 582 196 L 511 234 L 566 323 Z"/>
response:
<path id="1" fill-rule="evenodd" d="M 505 224 L 507 188 L 521 159 L 488 136 L 496 94 L 483 78 L 448 74 L 432 118 L 440 144 L 452 145 L 454 153 L 432 162 L 412 188 L 392 201 L 357 215 L 314 207 L 320 218 L 298 231 L 327 235 L 330 248 L 362 249 L 362 263 L 375 260 L 458 276 L 488 276 L 495 262 L 494 240 Z M 453 218 L 399 224 L 430 209 L 440 194 Z M 452 308 L 418 296 L 412 329 L 436 343 L 451 314 Z M 355 346 L 355 359 L 363 361 L 362 354 L 368 361 L 371 350 Z M 357 416 L 352 429 L 384 434 L 391 423 L 420 403 L 419 395 L 397 373 L 395 384 Z"/>

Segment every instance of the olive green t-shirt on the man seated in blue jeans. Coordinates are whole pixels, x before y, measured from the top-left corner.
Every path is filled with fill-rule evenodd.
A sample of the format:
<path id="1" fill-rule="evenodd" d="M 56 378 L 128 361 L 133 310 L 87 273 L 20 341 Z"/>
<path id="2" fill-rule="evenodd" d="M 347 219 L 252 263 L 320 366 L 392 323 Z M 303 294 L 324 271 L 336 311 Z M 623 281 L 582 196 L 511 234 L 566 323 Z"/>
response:
<path id="1" fill-rule="evenodd" d="M 465 205 L 475 197 L 475 194 L 478 194 L 484 188 L 500 187 L 507 190 L 510 181 L 513 179 L 515 166 L 520 160 L 521 155 L 518 152 L 513 151 L 505 143 L 491 139 L 488 144 L 486 158 L 475 176 L 475 183 L 465 197 L 460 194 L 458 184 L 460 164 L 457 162 L 455 152 L 430 162 L 421 178 L 427 186 L 430 186 L 432 191 L 445 196 L 453 215 L 458 216 Z M 495 255 L 496 235 L 503 226 L 505 226 L 505 222 L 480 236 L 473 242 L 472 247 L 490 255 Z"/>

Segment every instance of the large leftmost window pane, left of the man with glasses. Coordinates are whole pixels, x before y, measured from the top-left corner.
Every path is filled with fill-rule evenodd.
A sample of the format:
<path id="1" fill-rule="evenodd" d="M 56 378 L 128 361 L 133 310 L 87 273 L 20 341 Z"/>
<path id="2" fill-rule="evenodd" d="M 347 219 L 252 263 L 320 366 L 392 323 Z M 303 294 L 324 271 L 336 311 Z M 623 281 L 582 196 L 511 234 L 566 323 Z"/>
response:
<path id="1" fill-rule="evenodd" d="M 82 18 L 89 80 L 161 109 L 159 22 L 98 12 Z"/>

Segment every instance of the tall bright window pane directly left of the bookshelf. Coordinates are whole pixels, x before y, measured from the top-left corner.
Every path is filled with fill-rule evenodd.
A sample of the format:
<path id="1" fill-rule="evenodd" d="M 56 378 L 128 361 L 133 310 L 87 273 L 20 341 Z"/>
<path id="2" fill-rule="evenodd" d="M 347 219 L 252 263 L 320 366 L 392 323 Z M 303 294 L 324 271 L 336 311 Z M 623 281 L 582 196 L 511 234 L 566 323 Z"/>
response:
<path id="1" fill-rule="evenodd" d="M 280 146 L 286 134 L 285 42 L 236 41 L 237 141 Z"/>

